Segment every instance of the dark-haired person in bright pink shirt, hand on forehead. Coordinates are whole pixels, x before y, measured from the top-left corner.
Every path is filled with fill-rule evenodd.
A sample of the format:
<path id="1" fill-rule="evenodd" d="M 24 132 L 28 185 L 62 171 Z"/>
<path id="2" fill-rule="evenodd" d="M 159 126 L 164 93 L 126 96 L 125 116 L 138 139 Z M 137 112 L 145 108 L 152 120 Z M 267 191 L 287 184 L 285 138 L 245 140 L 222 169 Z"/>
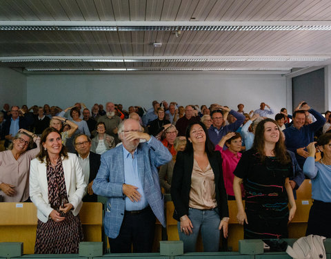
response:
<path id="1" fill-rule="evenodd" d="M 223 150 L 224 144 L 227 146 L 225 150 Z M 235 200 L 233 192 L 233 172 L 241 158 L 241 135 L 236 132 L 229 132 L 222 137 L 219 144 L 215 146 L 215 150 L 221 152 L 222 155 L 223 179 L 228 200 Z"/>

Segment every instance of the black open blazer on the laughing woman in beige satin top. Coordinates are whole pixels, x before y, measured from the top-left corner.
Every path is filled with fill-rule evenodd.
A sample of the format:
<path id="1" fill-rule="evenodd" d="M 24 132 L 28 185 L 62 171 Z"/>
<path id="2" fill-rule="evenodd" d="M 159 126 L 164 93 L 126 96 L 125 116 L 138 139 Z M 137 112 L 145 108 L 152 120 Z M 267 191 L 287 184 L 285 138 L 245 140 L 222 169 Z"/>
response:
<path id="1" fill-rule="evenodd" d="M 174 164 L 170 192 L 172 201 L 174 202 L 173 217 L 178 221 L 181 216 L 188 215 L 193 159 L 193 153 L 179 152 L 177 153 L 176 164 Z M 208 155 L 208 160 L 215 175 L 216 202 L 219 209 L 219 217 L 222 219 L 229 216 L 229 210 L 222 173 L 221 153 L 214 151 L 212 155 Z"/>

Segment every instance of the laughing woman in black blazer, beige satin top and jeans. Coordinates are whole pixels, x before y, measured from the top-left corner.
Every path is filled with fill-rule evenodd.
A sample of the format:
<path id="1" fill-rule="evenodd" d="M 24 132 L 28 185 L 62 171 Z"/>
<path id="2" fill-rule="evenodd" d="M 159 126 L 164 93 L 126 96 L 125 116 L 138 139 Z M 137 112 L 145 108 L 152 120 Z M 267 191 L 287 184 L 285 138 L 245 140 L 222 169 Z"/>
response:
<path id="1" fill-rule="evenodd" d="M 177 153 L 171 183 L 174 219 L 184 252 L 195 251 L 201 229 L 203 251 L 219 251 L 221 229 L 228 236 L 228 201 L 221 153 L 214 151 L 202 122 L 186 130 L 185 151 Z"/>

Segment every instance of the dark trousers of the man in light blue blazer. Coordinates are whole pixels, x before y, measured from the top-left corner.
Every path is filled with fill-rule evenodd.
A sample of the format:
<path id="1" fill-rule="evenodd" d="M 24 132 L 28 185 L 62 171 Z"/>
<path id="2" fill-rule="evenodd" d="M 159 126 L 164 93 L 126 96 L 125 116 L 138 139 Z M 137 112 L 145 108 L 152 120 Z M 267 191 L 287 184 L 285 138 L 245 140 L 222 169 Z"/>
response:
<path id="1" fill-rule="evenodd" d="M 117 238 L 108 238 L 111 253 L 150 253 L 154 242 L 155 215 L 148 209 L 141 213 L 124 213 Z"/>

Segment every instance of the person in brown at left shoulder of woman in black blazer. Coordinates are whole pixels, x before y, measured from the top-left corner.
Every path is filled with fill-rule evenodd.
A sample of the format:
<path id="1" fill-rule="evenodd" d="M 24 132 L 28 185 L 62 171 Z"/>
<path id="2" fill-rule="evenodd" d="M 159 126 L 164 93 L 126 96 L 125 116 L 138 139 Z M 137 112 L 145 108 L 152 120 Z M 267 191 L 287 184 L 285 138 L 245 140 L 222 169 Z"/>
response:
<path id="1" fill-rule="evenodd" d="M 185 137 L 176 137 L 174 140 L 174 151 L 184 151 L 186 145 Z M 170 151 L 171 153 L 171 151 Z M 161 187 L 163 187 L 165 193 L 170 193 L 172 172 L 174 171 L 174 162 L 176 162 L 176 154 L 172 156 L 172 160 L 167 164 L 163 164 L 160 167 L 159 178 Z"/>

